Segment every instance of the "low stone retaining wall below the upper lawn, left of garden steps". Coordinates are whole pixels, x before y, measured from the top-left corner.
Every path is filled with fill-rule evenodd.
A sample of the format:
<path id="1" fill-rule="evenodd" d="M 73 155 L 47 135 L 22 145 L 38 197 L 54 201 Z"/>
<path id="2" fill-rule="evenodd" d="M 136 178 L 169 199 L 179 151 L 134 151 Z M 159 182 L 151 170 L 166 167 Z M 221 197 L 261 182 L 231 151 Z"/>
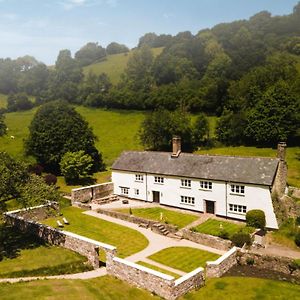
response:
<path id="1" fill-rule="evenodd" d="M 147 219 L 144 219 L 144 218 L 136 217 L 136 216 L 133 216 L 133 215 L 129 215 L 129 214 L 121 213 L 121 212 L 118 212 L 118 211 L 113 211 L 113 210 L 106 210 L 106 209 L 99 208 L 99 209 L 97 209 L 97 212 L 99 214 L 103 214 L 103 215 L 106 215 L 106 216 L 110 216 L 110 217 L 113 217 L 113 218 L 116 218 L 116 219 L 131 222 L 131 223 L 134 223 L 134 224 L 141 224 L 141 223 L 147 224 L 147 226 L 150 227 L 150 228 L 152 228 L 154 224 L 159 224 L 159 222 L 157 222 L 157 221 L 147 220 Z M 171 233 L 176 233 L 177 230 L 178 230 L 177 227 L 174 226 L 174 225 L 165 224 L 165 223 L 161 223 L 161 224 L 164 225 L 164 227 L 167 230 L 169 230 Z M 156 232 L 161 233 L 160 231 L 156 231 Z"/>

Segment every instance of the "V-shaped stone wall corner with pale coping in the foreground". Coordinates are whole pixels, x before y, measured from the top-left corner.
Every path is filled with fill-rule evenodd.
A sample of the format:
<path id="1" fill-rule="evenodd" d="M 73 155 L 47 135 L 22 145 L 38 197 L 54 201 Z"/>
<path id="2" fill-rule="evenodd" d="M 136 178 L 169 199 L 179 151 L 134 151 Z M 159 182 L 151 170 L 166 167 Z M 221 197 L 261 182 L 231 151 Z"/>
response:
<path id="1" fill-rule="evenodd" d="M 177 299 L 188 291 L 204 285 L 203 268 L 198 268 L 174 280 L 173 276 L 115 257 L 106 264 L 107 272 L 137 287 L 146 289 L 167 300 Z"/>

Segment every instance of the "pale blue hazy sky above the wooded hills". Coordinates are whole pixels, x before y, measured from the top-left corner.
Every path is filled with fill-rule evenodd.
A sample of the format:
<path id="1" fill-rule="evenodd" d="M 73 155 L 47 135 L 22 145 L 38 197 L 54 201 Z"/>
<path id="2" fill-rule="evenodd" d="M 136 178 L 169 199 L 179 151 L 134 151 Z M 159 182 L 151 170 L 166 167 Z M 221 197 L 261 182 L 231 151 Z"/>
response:
<path id="1" fill-rule="evenodd" d="M 87 42 L 135 47 L 147 32 L 193 34 L 262 10 L 290 14 L 299 0 L 0 0 L 0 57 L 54 64 Z"/>

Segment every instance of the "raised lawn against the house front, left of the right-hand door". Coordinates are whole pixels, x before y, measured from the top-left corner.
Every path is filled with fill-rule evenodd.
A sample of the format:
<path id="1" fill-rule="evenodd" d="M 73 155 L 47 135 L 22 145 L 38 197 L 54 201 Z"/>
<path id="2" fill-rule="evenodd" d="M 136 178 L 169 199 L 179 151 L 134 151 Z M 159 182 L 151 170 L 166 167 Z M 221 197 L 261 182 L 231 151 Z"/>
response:
<path id="1" fill-rule="evenodd" d="M 128 208 L 119 209 L 118 211 L 129 214 Z M 175 225 L 178 228 L 183 228 L 198 219 L 197 216 L 191 215 L 189 213 L 177 212 L 161 207 L 132 208 L 131 211 L 134 216 L 162 223 L 165 222 L 167 224 Z M 161 216 L 163 217 L 162 220 Z"/>

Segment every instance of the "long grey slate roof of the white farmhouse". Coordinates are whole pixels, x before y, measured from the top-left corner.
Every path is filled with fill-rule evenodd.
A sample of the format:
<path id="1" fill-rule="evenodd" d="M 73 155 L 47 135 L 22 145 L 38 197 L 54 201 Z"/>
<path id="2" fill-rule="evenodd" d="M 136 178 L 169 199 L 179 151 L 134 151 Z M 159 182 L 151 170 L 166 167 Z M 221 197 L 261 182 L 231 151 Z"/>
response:
<path id="1" fill-rule="evenodd" d="M 125 151 L 112 169 L 270 186 L 278 163 L 277 158 Z"/>

